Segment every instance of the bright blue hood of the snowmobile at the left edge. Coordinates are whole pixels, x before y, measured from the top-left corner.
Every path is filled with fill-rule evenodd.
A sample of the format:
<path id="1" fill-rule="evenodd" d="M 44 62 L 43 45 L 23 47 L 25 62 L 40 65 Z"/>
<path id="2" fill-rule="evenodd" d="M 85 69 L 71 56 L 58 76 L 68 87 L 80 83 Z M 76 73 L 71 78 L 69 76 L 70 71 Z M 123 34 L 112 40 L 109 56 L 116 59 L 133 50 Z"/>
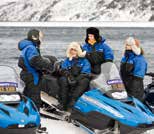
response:
<path id="1" fill-rule="evenodd" d="M 34 110 L 33 102 L 27 98 L 27 101 L 20 101 L 17 107 L 12 107 L 0 103 L 0 127 L 7 128 L 11 125 L 19 124 L 25 126 L 29 123 L 39 126 L 40 115 Z M 25 108 L 28 113 L 25 112 Z"/>

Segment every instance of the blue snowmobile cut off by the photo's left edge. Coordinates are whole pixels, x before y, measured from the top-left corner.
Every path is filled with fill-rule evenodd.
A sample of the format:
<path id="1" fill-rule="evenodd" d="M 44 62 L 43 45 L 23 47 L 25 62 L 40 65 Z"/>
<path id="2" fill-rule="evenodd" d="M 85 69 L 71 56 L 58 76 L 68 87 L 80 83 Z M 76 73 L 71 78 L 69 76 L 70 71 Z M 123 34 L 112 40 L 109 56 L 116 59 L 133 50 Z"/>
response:
<path id="1" fill-rule="evenodd" d="M 40 115 L 14 68 L 0 65 L 0 133 L 36 134 Z"/>

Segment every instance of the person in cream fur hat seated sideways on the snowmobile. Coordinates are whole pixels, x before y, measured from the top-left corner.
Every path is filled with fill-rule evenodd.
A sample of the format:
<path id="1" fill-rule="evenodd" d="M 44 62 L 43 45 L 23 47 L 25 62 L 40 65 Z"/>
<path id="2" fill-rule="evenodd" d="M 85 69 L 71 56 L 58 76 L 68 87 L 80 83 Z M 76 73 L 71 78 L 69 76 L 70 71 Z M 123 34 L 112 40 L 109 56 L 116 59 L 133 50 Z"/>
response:
<path id="1" fill-rule="evenodd" d="M 66 54 L 67 58 L 61 65 L 62 76 L 59 78 L 61 110 L 71 108 L 78 97 L 88 89 L 91 73 L 90 63 L 84 58 L 85 52 L 82 52 L 79 43 L 70 43 Z"/>

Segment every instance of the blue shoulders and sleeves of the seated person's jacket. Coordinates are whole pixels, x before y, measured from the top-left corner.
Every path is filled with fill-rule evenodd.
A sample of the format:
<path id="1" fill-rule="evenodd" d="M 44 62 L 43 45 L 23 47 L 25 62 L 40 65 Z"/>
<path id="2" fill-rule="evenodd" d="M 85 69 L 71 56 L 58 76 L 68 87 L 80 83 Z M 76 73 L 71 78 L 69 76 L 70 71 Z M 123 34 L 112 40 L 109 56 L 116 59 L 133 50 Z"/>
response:
<path id="1" fill-rule="evenodd" d="M 69 70 L 74 65 L 77 65 L 78 67 L 81 68 L 80 73 L 85 73 L 85 74 L 90 74 L 91 73 L 91 65 L 90 65 L 89 61 L 86 58 L 78 58 L 77 64 L 76 64 L 76 60 L 74 60 L 74 59 L 69 60 L 69 58 L 66 58 L 64 60 L 64 62 L 62 63 L 61 68 Z"/>

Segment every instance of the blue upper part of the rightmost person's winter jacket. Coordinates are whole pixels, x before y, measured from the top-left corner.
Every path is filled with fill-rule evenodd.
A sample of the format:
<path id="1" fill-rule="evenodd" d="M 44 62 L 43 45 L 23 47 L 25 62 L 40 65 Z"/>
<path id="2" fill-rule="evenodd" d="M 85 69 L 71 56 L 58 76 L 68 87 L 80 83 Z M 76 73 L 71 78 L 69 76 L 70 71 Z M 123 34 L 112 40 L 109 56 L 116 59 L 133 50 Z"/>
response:
<path id="1" fill-rule="evenodd" d="M 122 63 L 133 65 L 131 74 L 140 78 L 144 78 L 147 71 L 147 62 L 143 55 L 135 55 L 133 52 L 127 52 L 121 59 Z"/>

